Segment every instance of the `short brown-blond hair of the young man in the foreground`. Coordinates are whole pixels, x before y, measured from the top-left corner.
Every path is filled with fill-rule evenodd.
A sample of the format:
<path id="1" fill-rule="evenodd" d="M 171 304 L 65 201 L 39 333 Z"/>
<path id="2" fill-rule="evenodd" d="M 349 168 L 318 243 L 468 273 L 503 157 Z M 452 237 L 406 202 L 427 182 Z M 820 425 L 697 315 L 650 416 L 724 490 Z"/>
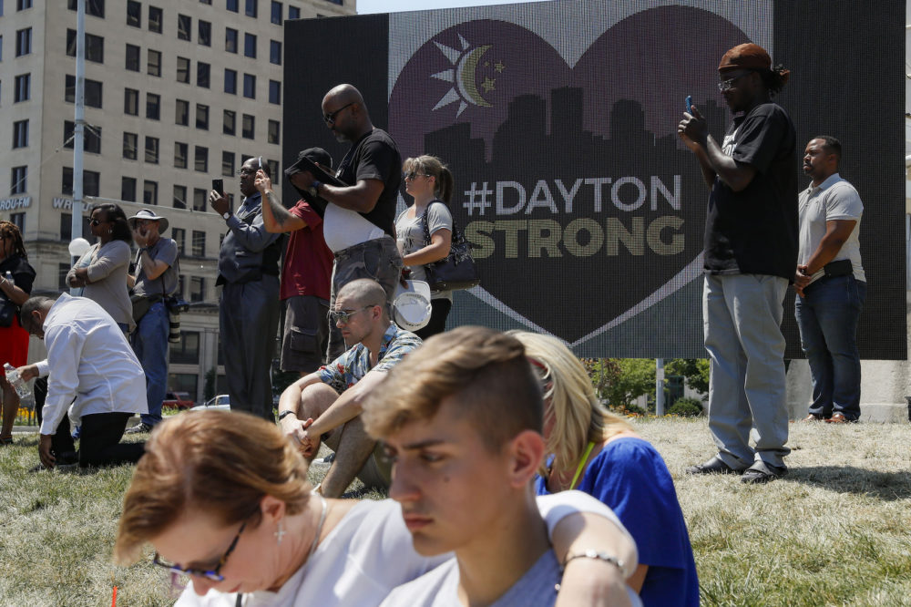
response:
<path id="1" fill-rule="evenodd" d="M 434 335 L 405 356 L 364 406 L 364 427 L 375 438 L 389 437 L 433 418 L 450 396 L 492 453 L 523 430 L 541 431 L 541 389 L 524 348 L 479 326 Z"/>

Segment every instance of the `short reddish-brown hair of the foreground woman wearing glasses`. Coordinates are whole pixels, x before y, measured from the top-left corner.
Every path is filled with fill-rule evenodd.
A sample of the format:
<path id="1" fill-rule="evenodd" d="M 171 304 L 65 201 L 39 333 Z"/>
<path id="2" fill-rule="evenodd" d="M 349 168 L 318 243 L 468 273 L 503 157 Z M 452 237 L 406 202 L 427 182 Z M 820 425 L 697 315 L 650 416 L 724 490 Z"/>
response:
<path id="1" fill-rule="evenodd" d="M 260 501 L 302 512 L 312 490 L 307 464 L 281 430 L 260 417 L 187 411 L 155 427 L 123 498 L 115 559 L 129 564 L 142 546 L 189 508 L 220 524 L 260 523 Z"/>

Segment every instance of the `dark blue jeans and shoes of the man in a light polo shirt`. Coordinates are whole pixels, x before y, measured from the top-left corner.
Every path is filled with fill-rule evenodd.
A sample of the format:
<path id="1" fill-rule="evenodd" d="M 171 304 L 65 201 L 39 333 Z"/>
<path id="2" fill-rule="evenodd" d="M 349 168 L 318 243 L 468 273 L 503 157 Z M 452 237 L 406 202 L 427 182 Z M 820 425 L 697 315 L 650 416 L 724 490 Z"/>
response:
<path id="1" fill-rule="evenodd" d="M 810 413 L 860 417 L 860 353 L 857 318 L 864 307 L 866 283 L 852 275 L 821 278 L 797 297 L 794 316 L 813 376 Z"/>

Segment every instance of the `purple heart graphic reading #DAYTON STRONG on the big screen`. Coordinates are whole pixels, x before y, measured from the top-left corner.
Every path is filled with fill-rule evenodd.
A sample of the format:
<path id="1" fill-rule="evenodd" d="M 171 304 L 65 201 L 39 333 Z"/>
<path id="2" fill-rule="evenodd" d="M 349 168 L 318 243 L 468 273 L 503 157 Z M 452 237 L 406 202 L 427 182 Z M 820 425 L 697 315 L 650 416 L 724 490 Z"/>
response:
<path id="1" fill-rule="evenodd" d="M 746 40 L 708 11 L 652 8 L 570 67 L 524 27 L 466 22 L 404 66 L 390 131 L 403 158 L 448 163 L 488 301 L 577 341 L 698 259 L 708 190 L 677 124 L 691 95 L 720 137 L 718 60 Z"/>

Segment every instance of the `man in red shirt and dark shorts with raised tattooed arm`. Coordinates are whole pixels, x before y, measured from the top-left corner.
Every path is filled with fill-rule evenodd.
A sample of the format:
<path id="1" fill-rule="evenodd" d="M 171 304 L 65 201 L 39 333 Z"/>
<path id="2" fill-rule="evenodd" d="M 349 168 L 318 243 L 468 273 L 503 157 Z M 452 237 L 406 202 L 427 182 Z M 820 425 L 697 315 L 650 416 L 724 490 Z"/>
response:
<path id="1" fill-rule="evenodd" d="M 303 150 L 305 156 L 331 170 L 333 159 L 322 148 Z M 300 173 L 298 173 L 300 174 Z M 292 184 L 297 175 L 290 175 Z M 285 303 L 281 338 L 281 370 L 306 376 L 320 367 L 329 341 L 330 284 L 333 252 L 322 238 L 322 212 L 301 199 L 290 210 L 272 191 L 269 177 L 257 173 L 255 185 L 262 194 L 262 221 L 266 231 L 291 232 L 281 268 L 280 298 Z"/>

